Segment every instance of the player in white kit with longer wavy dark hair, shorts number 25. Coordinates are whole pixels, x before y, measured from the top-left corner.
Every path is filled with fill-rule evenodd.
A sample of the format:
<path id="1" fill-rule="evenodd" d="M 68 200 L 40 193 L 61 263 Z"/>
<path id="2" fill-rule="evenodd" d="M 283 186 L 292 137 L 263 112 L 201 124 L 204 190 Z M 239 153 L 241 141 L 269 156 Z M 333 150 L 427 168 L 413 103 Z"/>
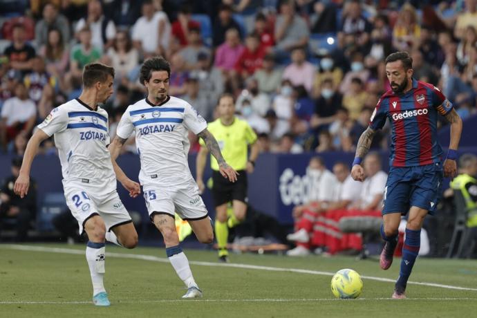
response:
<path id="1" fill-rule="evenodd" d="M 171 265 L 187 286 L 183 298 L 196 298 L 202 297 L 202 292 L 179 246 L 175 213 L 189 221 L 201 243 L 212 243 L 214 234 L 187 164 L 188 131 L 203 138 L 224 178 L 235 182 L 237 173 L 223 159 L 217 141 L 207 130 L 207 122 L 185 100 L 167 95 L 170 75 L 169 62 L 162 57 L 147 59 L 142 64 L 140 82 L 148 95 L 124 112 L 109 150 L 115 160 L 124 142 L 135 132 L 141 161 L 139 181 L 151 221 L 162 233 Z"/>

